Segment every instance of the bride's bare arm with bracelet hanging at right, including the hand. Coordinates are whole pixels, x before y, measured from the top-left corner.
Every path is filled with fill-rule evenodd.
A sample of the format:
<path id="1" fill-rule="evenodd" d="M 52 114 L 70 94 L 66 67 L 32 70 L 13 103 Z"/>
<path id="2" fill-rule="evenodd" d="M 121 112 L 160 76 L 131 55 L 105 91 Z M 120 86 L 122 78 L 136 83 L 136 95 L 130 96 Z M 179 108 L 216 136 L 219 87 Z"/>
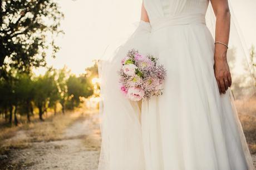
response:
<path id="1" fill-rule="evenodd" d="M 228 0 L 211 0 L 216 16 L 215 42 L 228 45 L 230 32 L 230 12 Z M 232 84 L 227 62 L 227 47 L 221 43 L 215 44 L 214 72 L 220 93 L 225 93 Z"/>

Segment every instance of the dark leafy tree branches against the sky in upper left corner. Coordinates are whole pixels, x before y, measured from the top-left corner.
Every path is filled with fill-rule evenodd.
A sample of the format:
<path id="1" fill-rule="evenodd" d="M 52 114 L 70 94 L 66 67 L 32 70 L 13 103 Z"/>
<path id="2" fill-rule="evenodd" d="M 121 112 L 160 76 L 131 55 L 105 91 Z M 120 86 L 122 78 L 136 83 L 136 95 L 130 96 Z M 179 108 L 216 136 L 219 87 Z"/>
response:
<path id="1" fill-rule="evenodd" d="M 45 66 L 46 50 L 58 51 L 53 39 L 63 14 L 55 0 L 3 0 L 0 11 L 0 76 L 9 68 L 29 72 Z"/>

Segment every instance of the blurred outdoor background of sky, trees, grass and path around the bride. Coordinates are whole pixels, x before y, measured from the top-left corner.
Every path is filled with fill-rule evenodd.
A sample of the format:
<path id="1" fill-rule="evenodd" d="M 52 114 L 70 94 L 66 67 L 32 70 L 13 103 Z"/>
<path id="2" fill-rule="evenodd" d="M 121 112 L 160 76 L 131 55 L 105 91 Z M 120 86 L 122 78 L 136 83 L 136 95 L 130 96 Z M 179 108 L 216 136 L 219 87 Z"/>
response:
<path id="1" fill-rule="evenodd" d="M 97 61 L 135 30 L 142 1 L 0 3 L 0 169 L 97 169 Z M 256 80 L 255 8 L 254 0 L 233 1 L 253 73 L 234 77 L 232 91 L 254 160 L 256 94 L 243 88 L 256 87 L 244 81 Z"/>

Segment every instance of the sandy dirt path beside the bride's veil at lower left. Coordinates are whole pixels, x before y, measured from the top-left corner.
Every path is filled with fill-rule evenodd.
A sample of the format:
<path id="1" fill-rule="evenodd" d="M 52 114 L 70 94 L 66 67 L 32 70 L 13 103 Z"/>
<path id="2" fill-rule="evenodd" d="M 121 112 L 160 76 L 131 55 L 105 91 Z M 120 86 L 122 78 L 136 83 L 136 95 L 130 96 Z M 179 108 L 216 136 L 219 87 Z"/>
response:
<path id="1" fill-rule="evenodd" d="M 12 164 L 21 164 L 21 169 L 93 170 L 97 169 L 99 150 L 99 119 L 93 113 L 68 127 L 60 141 L 35 142 L 13 154 Z"/>

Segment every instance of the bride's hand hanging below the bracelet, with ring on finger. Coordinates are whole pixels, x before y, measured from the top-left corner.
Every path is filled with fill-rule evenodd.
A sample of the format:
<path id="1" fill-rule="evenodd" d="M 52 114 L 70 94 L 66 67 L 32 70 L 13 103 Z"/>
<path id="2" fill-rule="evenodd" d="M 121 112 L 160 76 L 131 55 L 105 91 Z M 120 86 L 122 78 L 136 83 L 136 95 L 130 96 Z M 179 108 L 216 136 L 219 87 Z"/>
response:
<path id="1" fill-rule="evenodd" d="M 227 62 L 227 51 L 214 54 L 214 74 L 219 86 L 219 92 L 225 94 L 232 84 L 231 74 Z"/>

